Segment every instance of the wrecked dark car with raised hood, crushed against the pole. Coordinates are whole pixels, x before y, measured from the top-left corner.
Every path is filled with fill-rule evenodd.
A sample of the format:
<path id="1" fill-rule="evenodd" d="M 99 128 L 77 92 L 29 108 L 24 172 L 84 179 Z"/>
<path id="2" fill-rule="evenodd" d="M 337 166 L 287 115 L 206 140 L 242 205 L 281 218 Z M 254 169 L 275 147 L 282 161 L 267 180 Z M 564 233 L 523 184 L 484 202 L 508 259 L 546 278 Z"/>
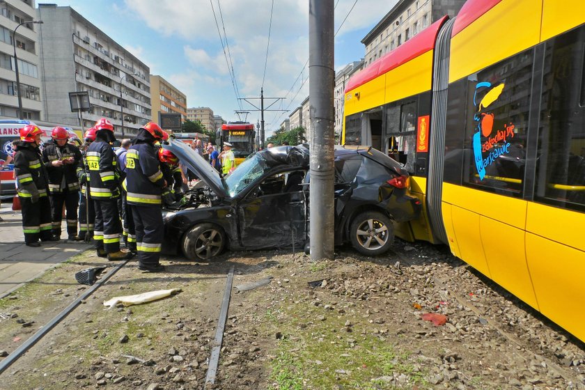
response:
<path id="1" fill-rule="evenodd" d="M 225 178 L 185 143 L 163 146 L 201 178 L 180 210 L 164 212 L 163 252 L 209 260 L 231 251 L 297 247 L 309 241 L 309 148 L 278 146 L 250 155 Z M 368 146 L 335 148 L 335 243 L 385 253 L 393 222 L 416 219 L 407 171 Z"/>

